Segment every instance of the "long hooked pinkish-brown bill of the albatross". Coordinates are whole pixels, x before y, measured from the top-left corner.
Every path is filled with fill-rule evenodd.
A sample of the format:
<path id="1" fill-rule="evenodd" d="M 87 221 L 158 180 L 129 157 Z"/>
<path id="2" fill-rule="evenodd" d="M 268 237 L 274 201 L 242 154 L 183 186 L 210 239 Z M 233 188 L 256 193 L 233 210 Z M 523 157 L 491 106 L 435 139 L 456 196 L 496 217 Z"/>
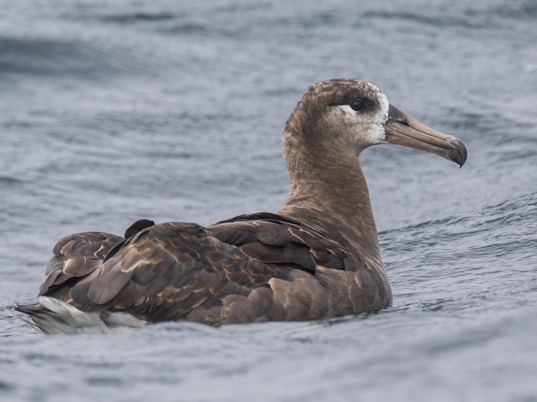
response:
<path id="1" fill-rule="evenodd" d="M 389 143 L 436 153 L 458 163 L 460 167 L 466 162 L 466 147 L 459 138 L 433 130 L 394 106 L 390 105 L 384 126 Z"/>

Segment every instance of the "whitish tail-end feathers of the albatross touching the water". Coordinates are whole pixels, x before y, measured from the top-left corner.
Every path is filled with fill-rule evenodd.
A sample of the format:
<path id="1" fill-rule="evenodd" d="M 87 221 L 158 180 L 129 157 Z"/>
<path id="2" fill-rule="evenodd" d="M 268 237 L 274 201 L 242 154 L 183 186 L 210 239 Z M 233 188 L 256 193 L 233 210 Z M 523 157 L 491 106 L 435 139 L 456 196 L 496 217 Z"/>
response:
<path id="1" fill-rule="evenodd" d="M 45 309 L 28 312 L 28 317 L 8 311 L 39 332 L 47 335 L 91 333 L 117 334 L 148 324 L 127 312 L 84 312 L 54 297 L 40 296 L 40 306 Z"/>

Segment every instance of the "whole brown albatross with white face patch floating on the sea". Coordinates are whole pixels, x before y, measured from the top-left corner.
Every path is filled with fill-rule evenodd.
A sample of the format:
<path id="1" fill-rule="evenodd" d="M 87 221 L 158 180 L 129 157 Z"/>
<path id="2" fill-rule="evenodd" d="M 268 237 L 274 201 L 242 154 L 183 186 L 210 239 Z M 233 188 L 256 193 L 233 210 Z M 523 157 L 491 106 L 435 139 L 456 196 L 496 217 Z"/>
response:
<path id="1" fill-rule="evenodd" d="M 54 247 L 39 306 L 16 306 L 27 317 L 11 314 L 44 333 L 109 333 L 166 320 L 219 326 L 390 307 L 360 152 L 401 144 L 462 166 L 465 146 L 357 79 L 309 87 L 283 137 L 291 185 L 277 213 L 208 227 L 142 219 L 125 237 L 64 237 Z"/>

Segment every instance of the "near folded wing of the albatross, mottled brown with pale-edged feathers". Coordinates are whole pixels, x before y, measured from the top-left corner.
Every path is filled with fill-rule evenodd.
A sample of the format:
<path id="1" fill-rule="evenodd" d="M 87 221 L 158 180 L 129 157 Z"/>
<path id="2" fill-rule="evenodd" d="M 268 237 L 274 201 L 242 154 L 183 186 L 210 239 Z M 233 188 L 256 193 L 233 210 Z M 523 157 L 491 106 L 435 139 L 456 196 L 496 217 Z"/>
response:
<path id="1" fill-rule="evenodd" d="M 177 319 L 208 300 L 214 303 L 215 295 L 248 295 L 274 274 L 281 275 L 217 240 L 204 227 L 172 222 L 142 230 L 69 295 L 77 304 L 92 303 L 82 308 L 112 303 L 150 321 L 158 308 L 157 316 Z M 168 308 L 163 308 L 166 303 Z"/>

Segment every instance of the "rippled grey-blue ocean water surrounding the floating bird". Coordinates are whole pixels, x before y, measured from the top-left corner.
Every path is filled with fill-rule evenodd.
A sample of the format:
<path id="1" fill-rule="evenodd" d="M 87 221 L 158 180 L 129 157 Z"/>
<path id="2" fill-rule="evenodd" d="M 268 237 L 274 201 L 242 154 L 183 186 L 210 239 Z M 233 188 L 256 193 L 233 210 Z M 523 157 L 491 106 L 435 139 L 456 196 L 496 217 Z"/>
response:
<path id="1" fill-rule="evenodd" d="M 537 401 L 537 2 L 0 0 L 0 306 L 139 218 L 275 212 L 306 88 L 370 81 L 462 169 L 361 157 L 394 307 L 47 337 L 0 312 L 2 401 Z"/>

